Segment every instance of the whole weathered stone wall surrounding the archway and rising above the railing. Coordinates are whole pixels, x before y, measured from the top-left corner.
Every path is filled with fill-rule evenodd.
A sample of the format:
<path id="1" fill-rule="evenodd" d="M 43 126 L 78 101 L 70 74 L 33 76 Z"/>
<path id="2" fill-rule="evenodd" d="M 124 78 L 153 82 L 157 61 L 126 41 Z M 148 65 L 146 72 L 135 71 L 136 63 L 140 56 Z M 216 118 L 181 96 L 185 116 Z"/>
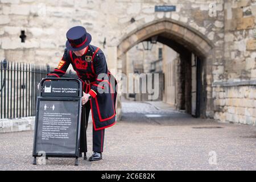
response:
<path id="1" fill-rule="evenodd" d="M 123 65 L 123 54 L 131 47 L 154 34 L 164 33 L 164 38 L 172 39 L 173 43 L 179 42 L 202 57 L 201 101 L 204 101 L 202 112 L 206 117 L 229 121 L 229 114 L 236 115 L 236 112 L 230 113 L 233 110 L 227 107 L 241 107 L 237 102 L 226 105 L 230 99 L 228 93 L 233 92 L 229 90 L 255 90 L 255 0 L 0 2 L 0 59 L 5 57 L 10 61 L 55 67 L 65 48 L 66 31 L 81 25 L 92 34 L 92 44 L 103 49 L 109 68 L 116 74 L 126 66 Z M 209 5 L 213 2 L 216 15 L 210 16 Z M 174 5 L 176 11 L 155 12 L 155 5 Z M 25 43 L 21 43 L 19 38 L 22 30 L 27 36 Z M 242 81 L 251 82 L 245 85 L 241 84 Z M 239 100 L 240 96 L 234 94 L 231 99 L 236 98 Z M 255 98 L 247 96 L 243 99 L 255 101 Z M 119 100 L 118 107 L 121 107 Z M 247 110 L 237 115 L 246 114 Z M 233 119 L 233 122 L 237 121 L 240 120 Z"/>

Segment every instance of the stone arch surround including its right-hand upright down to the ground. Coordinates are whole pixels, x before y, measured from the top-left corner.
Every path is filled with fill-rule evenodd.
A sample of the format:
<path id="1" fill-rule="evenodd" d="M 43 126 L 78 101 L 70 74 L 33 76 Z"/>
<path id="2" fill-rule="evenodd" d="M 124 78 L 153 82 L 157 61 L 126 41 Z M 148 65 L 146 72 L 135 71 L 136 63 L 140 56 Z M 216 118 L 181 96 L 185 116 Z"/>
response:
<path id="1" fill-rule="evenodd" d="M 172 19 L 158 19 L 153 22 L 138 27 L 129 34 L 123 36 L 117 46 L 117 62 L 122 65 L 122 56 L 136 44 L 158 35 L 158 42 L 166 44 L 176 52 L 192 52 L 203 60 L 201 72 L 204 73 L 200 78 L 204 84 L 204 89 L 200 96 L 201 117 L 213 117 L 211 112 L 213 101 L 211 98 L 211 84 L 207 81 L 208 75 L 212 75 L 212 60 L 214 58 L 214 44 L 195 28 L 189 27 L 184 23 Z M 168 41 L 167 41 L 168 40 Z M 171 40 L 171 41 L 170 41 Z M 208 79 L 209 80 L 209 79 Z"/>

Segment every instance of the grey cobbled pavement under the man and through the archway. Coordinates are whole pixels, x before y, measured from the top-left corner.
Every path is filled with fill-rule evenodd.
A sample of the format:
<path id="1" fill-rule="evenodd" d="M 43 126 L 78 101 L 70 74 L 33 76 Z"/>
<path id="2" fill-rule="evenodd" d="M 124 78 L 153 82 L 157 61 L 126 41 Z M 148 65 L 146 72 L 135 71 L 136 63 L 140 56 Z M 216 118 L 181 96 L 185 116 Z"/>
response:
<path id="1" fill-rule="evenodd" d="M 122 102 L 106 129 L 103 160 L 49 158 L 32 165 L 33 131 L 0 134 L 0 170 L 255 170 L 254 126 L 196 119 L 163 102 Z M 92 123 L 88 126 L 92 154 Z M 202 128 L 203 127 L 203 128 Z M 214 158 L 216 157 L 216 158 Z M 216 159 L 216 160 L 214 160 Z"/>

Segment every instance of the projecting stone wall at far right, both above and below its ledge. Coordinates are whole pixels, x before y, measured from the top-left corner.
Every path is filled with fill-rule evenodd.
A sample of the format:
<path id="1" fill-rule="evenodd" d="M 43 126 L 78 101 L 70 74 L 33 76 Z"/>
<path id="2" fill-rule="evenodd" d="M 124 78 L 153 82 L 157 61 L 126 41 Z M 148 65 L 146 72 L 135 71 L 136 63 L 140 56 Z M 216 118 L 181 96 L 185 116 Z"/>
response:
<path id="1" fill-rule="evenodd" d="M 214 118 L 255 125 L 256 1 L 225 1 L 222 82 L 213 84 Z"/>

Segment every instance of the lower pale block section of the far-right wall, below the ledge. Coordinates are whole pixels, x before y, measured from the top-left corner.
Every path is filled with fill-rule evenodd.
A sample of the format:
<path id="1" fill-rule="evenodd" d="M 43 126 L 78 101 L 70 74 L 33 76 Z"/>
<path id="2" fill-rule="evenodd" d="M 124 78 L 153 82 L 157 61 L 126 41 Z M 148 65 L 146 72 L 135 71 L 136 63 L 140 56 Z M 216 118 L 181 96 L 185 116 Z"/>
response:
<path id="1" fill-rule="evenodd" d="M 255 85 L 216 86 L 213 89 L 217 94 L 214 101 L 216 106 L 214 118 L 222 122 L 256 125 Z"/>

